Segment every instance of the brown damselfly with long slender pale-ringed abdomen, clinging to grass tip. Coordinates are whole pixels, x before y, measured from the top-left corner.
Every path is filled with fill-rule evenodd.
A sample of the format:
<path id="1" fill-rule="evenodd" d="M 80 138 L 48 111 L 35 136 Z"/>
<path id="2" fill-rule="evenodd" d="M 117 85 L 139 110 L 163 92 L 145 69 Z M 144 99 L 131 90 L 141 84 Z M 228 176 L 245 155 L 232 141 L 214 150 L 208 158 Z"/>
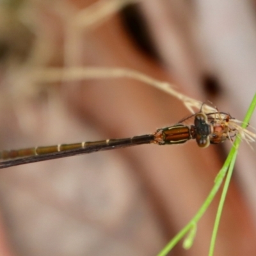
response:
<path id="1" fill-rule="evenodd" d="M 194 118 L 193 125 L 188 126 L 182 124 L 189 118 Z M 184 118 L 179 124 L 157 129 L 152 134 L 134 136 L 132 138 L 86 141 L 49 147 L 22 148 L 19 150 L 3 150 L 0 153 L 0 159 L 3 160 L 0 163 L 0 168 L 147 143 L 172 145 L 195 139 L 199 147 L 205 148 L 210 143 L 221 143 L 227 138 L 231 139 L 236 136 L 236 129 L 228 125 L 230 119 L 232 117 L 227 113 L 214 112 L 205 114 L 200 111 L 195 115 Z"/>

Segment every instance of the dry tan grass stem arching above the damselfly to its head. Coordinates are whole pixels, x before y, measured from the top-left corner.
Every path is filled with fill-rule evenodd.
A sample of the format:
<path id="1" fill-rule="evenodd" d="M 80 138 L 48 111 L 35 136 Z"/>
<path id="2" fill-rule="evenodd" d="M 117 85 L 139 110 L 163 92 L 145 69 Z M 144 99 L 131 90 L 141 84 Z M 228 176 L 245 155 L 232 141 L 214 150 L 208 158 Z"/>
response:
<path id="1" fill-rule="evenodd" d="M 192 99 L 180 92 L 177 92 L 172 87 L 172 84 L 159 81 L 150 76 L 147 76 L 136 70 L 131 70 L 128 68 L 96 68 L 96 67 L 76 67 L 76 68 L 45 68 L 41 70 L 35 70 L 31 72 L 32 79 L 35 83 L 57 83 L 57 82 L 70 82 L 79 81 L 84 79 L 111 79 L 111 78 L 130 78 L 136 81 L 141 81 L 142 83 L 154 86 L 155 88 L 162 90 L 173 97 L 181 100 L 186 108 L 195 113 L 194 109 L 201 109 L 204 113 L 218 113 L 218 109 L 203 104 L 199 100 Z M 203 104 L 203 105 L 202 105 Z M 218 113 L 219 122 L 225 122 L 227 115 L 225 113 Z M 247 143 L 255 141 L 256 134 L 243 129 L 239 124 L 241 121 L 236 118 L 228 120 L 228 129 L 230 131 L 236 131 L 243 140 Z"/>

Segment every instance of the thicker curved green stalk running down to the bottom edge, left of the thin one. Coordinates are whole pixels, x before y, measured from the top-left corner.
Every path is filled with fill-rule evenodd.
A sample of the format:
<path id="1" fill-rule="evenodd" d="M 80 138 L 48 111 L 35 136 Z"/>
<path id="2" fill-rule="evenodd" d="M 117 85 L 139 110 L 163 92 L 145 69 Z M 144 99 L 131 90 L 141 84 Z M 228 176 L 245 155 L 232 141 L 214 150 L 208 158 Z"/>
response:
<path id="1" fill-rule="evenodd" d="M 254 95 L 252 103 L 250 104 L 250 108 L 246 113 L 242 127 L 246 127 L 246 124 L 249 123 L 250 117 L 252 116 L 255 106 L 256 106 L 256 94 Z M 180 232 L 178 232 L 177 235 L 173 237 L 173 239 L 168 244 L 166 244 L 166 246 L 164 246 L 163 250 L 161 250 L 161 252 L 159 252 L 157 256 L 167 255 L 167 253 L 169 253 L 170 250 L 172 250 L 172 248 L 182 239 L 182 237 L 184 237 L 189 232 L 189 230 L 191 230 L 191 228 L 195 227 L 195 224 L 200 220 L 200 218 L 202 218 L 202 216 L 204 215 L 204 212 L 207 210 L 212 200 L 214 199 L 216 193 L 220 189 L 220 186 L 223 182 L 223 179 L 225 178 L 225 175 L 230 166 L 230 163 L 233 157 L 236 156 L 237 154 L 237 147 L 239 146 L 240 141 L 241 141 L 241 138 L 237 137 L 236 141 L 234 142 L 234 146 L 230 150 L 230 153 L 228 154 L 228 157 L 225 163 L 223 164 L 223 167 L 221 168 L 220 172 L 216 176 L 213 188 L 211 189 L 209 195 L 207 196 L 205 202 L 202 204 L 198 212 L 196 212 L 192 220 L 189 221 L 189 223 L 184 228 L 182 228 L 182 230 L 180 230 Z M 236 158 L 234 158 L 233 161 L 235 161 L 235 159 Z M 217 230 L 218 230 L 218 227 L 217 227 Z M 213 244 L 213 248 L 214 248 L 214 244 Z"/>

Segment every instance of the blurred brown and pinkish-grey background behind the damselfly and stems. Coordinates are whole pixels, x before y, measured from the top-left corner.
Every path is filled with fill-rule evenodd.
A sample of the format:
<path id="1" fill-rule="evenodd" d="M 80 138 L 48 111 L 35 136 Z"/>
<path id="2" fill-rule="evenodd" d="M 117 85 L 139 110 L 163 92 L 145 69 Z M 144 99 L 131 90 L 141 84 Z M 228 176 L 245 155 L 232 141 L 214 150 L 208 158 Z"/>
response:
<path id="1" fill-rule="evenodd" d="M 255 8 L 239 0 L 1 1 L 1 148 L 125 138 L 189 115 L 138 81 L 38 84 L 34 68 L 131 68 L 243 120 L 256 88 Z M 230 146 L 143 145 L 1 170 L 0 255 L 156 255 L 202 205 Z M 255 255 L 255 182 L 255 151 L 243 143 L 215 255 Z M 207 255 L 217 197 L 193 247 L 179 243 L 170 255 Z"/>

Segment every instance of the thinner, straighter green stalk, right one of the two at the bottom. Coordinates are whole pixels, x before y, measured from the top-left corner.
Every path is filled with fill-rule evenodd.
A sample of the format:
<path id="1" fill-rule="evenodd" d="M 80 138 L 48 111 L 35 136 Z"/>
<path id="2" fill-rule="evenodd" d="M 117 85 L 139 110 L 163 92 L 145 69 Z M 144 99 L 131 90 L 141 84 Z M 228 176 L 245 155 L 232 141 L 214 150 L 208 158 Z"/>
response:
<path id="1" fill-rule="evenodd" d="M 242 125 L 243 128 L 246 128 L 246 125 L 249 124 L 250 118 L 253 114 L 253 111 L 254 111 L 255 107 L 256 107 L 256 94 L 254 95 L 252 103 L 250 104 L 250 107 L 249 107 L 249 109 L 246 113 L 246 116 L 244 118 L 244 122 L 243 122 L 243 125 Z M 231 160 L 230 166 L 228 168 L 227 178 L 225 180 L 224 188 L 223 188 L 223 191 L 221 193 L 220 204 L 218 206 L 216 219 L 215 219 L 215 222 L 214 222 L 214 228 L 212 230 L 209 256 L 212 256 L 213 253 L 214 253 L 214 246 L 215 246 L 215 243 L 216 243 L 218 227 L 220 225 L 221 212 L 223 211 L 223 206 L 224 206 L 225 198 L 227 196 L 228 186 L 230 184 L 230 180 L 231 180 L 232 173 L 233 173 L 233 170 L 234 170 L 234 165 L 235 165 L 235 162 L 236 162 L 238 147 L 239 147 L 240 143 L 241 143 L 241 138 L 237 137 L 236 141 L 234 142 L 234 146 L 233 146 L 233 148 L 232 148 L 232 150 L 230 151 L 230 154 L 229 154 L 230 156 L 232 156 L 232 160 Z"/>

